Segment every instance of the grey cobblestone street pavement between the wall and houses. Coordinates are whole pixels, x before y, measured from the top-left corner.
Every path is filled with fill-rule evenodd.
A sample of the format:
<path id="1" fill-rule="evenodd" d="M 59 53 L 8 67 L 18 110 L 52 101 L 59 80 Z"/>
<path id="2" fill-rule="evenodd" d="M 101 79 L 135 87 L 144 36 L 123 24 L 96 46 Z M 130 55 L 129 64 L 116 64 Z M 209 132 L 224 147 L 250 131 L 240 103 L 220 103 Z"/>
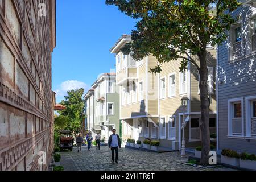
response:
<path id="1" fill-rule="evenodd" d="M 181 158 L 180 152 L 156 153 L 127 148 L 119 149 L 118 164 L 112 164 L 111 151 L 107 146 L 96 150 L 93 146 L 90 151 L 82 147 L 81 153 L 74 147 L 73 151 L 62 151 L 60 165 L 67 171 L 202 171 L 202 170 L 231 170 L 224 167 L 205 168 L 193 167 L 185 164 L 188 155 Z"/>

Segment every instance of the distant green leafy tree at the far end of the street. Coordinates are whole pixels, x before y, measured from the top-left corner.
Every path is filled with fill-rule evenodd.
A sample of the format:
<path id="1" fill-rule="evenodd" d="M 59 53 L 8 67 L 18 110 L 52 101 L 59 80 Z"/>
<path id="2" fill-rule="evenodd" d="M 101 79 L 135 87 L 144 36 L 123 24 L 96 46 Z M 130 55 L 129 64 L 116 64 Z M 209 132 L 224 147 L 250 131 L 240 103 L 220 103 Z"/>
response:
<path id="1" fill-rule="evenodd" d="M 69 118 L 68 125 L 65 129 L 75 131 L 76 133 L 81 130 L 82 119 L 85 118 L 85 104 L 84 100 L 82 100 L 83 94 L 84 88 L 68 91 L 68 96 L 65 96 L 65 100 L 60 103 L 66 109 L 58 111 L 61 116 Z"/>

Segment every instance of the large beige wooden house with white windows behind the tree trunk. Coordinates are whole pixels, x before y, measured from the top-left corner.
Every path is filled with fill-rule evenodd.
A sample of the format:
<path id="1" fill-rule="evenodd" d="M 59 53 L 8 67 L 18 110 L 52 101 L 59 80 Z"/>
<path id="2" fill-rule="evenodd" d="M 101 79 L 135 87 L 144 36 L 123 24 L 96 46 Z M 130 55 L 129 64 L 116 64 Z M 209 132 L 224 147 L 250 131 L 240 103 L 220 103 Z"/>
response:
<path id="1" fill-rule="evenodd" d="M 158 64 L 154 56 L 135 61 L 124 55 L 121 48 L 131 41 L 123 35 L 110 49 L 116 56 L 117 86 L 120 93 L 120 119 L 123 140 L 159 140 L 160 146 L 171 150 L 181 148 L 183 108 L 181 98 L 189 98 L 184 119 L 186 147 L 200 146 L 201 134 L 199 74 L 188 63 L 187 71 L 180 73 L 180 61 L 162 65 L 162 72 L 150 73 Z M 208 48 L 208 84 L 210 94 L 210 132 L 216 133 L 216 49 Z"/>

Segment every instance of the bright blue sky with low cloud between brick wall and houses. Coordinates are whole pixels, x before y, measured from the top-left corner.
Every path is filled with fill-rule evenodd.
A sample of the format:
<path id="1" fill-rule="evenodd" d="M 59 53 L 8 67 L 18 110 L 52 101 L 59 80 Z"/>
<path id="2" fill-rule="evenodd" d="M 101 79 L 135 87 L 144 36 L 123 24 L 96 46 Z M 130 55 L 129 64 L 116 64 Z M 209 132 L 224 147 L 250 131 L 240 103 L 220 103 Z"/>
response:
<path id="1" fill-rule="evenodd" d="M 135 20 L 104 0 L 57 0 L 57 46 L 52 54 L 52 90 L 60 102 L 67 90 L 88 90 L 100 73 L 114 69 L 109 49 Z"/>

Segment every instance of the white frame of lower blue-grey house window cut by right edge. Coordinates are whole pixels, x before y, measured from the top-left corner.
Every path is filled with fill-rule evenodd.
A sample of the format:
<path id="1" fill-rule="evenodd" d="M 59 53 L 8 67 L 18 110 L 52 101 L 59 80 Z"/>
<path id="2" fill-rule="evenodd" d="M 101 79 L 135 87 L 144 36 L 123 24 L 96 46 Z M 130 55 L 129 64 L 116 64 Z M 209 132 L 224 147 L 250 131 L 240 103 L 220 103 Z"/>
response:
<path id="1" fill-rule="evenodd" d="M 253 117 L 253 102 L 256 101 L 256 96 L 249 96 L 245 97 L 245 126 L 246 126 L 246 137 L 251 137 L 251 138 L 256 138 L 256 136 L 251 135 L 251 118 L 256 118 Z"/>

